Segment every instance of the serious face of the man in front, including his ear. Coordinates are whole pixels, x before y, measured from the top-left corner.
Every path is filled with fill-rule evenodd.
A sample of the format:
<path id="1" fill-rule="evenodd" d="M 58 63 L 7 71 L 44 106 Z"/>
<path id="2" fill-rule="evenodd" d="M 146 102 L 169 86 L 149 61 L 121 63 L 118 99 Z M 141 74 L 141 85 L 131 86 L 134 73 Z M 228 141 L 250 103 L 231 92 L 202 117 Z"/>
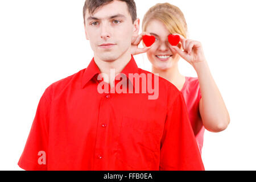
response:
<path id="1" fill-rule="evenodd" d="M 114 61 L 130 52 L 131 38 L 138 35 L 139 20 L 134 24 L 127 5 L 113 1 L 97 9 L 93 15 L 85 13 L 85 35 L 90 40 L 94 56 L 102 61 Z"/>

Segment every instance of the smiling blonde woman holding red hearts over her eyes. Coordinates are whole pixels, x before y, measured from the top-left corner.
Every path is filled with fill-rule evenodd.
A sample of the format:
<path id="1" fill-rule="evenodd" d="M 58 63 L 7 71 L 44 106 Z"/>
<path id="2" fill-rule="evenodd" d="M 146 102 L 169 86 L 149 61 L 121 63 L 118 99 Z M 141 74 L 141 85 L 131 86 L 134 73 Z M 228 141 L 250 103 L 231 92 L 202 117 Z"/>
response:
<path id="1" fill-rule="evenodd" d="M 230 118 L 221 93 L 210 73 L 203 47 L 187 39 L 187 23 L 180 9 L 169 3 L 158 3 L 144 15 L 143 33 L 133 39 L 133 55 L 146 52 L 152 73 L 158 73 L 183 93 L 189 119 L 201 153 L 204 129 L 220 132 L 228 127 Z M 171 46 L 168 35 L 179 35 L 180 42 Z M 155 36 L 150 47 L 138 48 L 143 35 Z M 184 51 L 183 51 L 184 50 Z M 180 74 L 178 61 L 182 57 L 195 69 L 198 78 Z"/>

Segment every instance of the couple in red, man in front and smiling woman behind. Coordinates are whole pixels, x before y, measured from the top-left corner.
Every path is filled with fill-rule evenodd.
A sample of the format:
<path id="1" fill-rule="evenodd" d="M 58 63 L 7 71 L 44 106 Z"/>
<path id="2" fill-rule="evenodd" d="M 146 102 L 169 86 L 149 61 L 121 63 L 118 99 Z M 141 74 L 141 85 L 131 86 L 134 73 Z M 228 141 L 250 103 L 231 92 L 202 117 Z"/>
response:
<path id="1" fill-rule="evenodd" d="M 19 167 L 204 170 L 200 155 L 204 129 L 224 130 L 229 114 L 200 42 L 186 39 L 181 11 L 168 3 L 151 7 L 139 35 L 133 0 L 86 0 L 84 25 L 94 57 L 87 68 L 45 90 Z M 170 34 L 179 34 L 177 46 L 168 43 Z M 154 35 L 154 44 L 138 48 L 143 35 Z M 137 67 L 133 55 L 143 52 L 155 74 Z M 198 79 L 180 75 L 180 57 L 195 68 Z M 117 73 L 114 79 L 111 69 Z M 108 90 L 120 82 L 125 83 L 123 89 L 134 89 L 138 83 L 143 89 L 145 85 L 134 82 L 130 74 L 150 74 L 147 83 L 158 82 L 158 98 L 149 100 L 149 93 L 98 92 L 101 82 Z"/>

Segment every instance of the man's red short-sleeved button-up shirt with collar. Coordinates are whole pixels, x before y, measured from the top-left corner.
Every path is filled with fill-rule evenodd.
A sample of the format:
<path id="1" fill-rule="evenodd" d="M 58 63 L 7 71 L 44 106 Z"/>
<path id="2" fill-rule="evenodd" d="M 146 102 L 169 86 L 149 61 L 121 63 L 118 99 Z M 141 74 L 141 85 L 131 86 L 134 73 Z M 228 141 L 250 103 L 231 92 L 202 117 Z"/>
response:
<path id="1" fill-rule="evenodd" d="M 174 85 L 158 77 L 155 100 L 148 99 L 150 93 L 99 93 L 99 73 L 92 59 L 87 68 L 48 86 L 19 167 L 204 170 L 184 98 Z M 133 56 L 121 72 L 131 82 L 128 73 L 152 74 L 138 68 Z"/>

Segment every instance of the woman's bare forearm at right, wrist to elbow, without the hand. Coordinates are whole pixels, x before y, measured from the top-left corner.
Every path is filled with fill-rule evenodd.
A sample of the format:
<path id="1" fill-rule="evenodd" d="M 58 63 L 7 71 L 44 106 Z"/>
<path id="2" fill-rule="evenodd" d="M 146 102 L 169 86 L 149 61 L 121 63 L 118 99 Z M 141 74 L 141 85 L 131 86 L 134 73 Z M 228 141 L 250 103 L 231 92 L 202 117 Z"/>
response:
<path id="1" fill-rule="evenodd" d="M 204 127 L 212 132 L 223 131 L 229 125 L 229 113 L 210 73 L 207 61 L 195 63 L 193 67 L 199 78 L 202 96 L 199 110 Z"/>

